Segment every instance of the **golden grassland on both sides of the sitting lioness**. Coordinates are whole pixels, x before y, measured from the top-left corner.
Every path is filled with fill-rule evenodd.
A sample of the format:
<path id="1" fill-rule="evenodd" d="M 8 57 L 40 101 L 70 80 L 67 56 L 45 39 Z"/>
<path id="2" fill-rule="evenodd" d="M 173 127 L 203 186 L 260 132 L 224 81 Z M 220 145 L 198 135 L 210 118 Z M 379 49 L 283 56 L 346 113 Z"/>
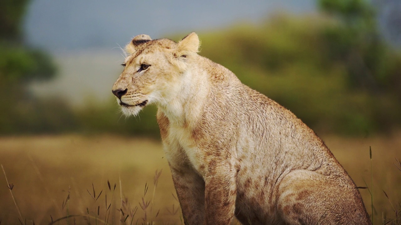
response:
<path id="1" fill-rule="evenodd" d="M 371 146 L 374 221 L 383 224 L 383 218 L 395 218 L 401 171 L 394 163 L 401 159 L 401 133 L 322 139 L 356 185 L 368 185 L 370 190 Z M 124 224 L 120 219 L 126 218 L 125 224 L 183 224 L 158 140 L 110 135 L 0 137 L 0 164 L 26 224 L 51 224 L 52 219 L 54 224 Z M 155 180 L 156 170 L 162 173 Z M 369 190 L 360 192 L 371 214 Z M 1 224 L 19 224 L 20 218 L 1 174 Z"/>

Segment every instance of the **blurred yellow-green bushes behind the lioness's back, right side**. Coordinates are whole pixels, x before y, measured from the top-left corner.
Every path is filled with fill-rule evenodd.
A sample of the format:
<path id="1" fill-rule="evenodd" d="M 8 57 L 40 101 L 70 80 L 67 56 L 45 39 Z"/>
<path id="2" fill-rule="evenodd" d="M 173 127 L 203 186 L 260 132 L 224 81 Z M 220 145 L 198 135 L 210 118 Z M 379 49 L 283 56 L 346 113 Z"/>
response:
<path id="1" fill-rule="evenodd" d="M 334 6 L 327 10 L 348 14 L 364 8 Z M 338 18 L 276 15 L 258 26 L 207 33 L 201 35 L 201 54 L 292 110 L 318 133 L 367 135 L 398 127 L 399 52 L 381 41 L 375 26 L 351 28 Z"/>

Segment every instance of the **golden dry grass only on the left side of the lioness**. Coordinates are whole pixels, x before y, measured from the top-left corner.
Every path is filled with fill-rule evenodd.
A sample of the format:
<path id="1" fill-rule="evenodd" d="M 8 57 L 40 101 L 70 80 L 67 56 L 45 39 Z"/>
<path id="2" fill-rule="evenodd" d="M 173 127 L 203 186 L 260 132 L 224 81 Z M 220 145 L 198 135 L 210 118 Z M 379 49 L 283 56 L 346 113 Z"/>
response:
<path id="1" fill-rule="evenodd" d="M 178 213 L 170 216 L 166 209 L 173 204 L 177 206 L 178 202 L 172 196 L 174 186 L 170 171 L 157 141 L 74 135 L 3 137 L 0 149 L 0 164 L 4 166 L 8 182 L 14 185 L 12 191 L 27 224 L 32 224 L 33 220 L 36 224 L 51 223 L 50 215 L 55 221 L 67 216 L 67 210 L 69 215 L 85 216 L 89 211 L 91 224 L 96 221 L 104 224 L 105 213 L 110 213 L 108 224 L 119 224 L 120 215 L 124 220 L 127 214 L 134 214 L 135 208 L 139 209 L 132 224 L 137 219 L 138 224 L 142 224 L 145 214 L 139 205 L 142 197 L 145 202 L 153 201 L 152 210 L 146 209 L 149 222 L 160 209 L 156 221 L 163 218 L 180 224 Z M 154 189 L 156 169 L 163 172 L 158 172 Z M 145 184 L 152 191 L 144 196 Z M 109 211 L 106 211 L 106 195 L 107 207 L 111 204 Z M 0 179 L 0 199 L 2 223 L 18 223 L 18 212 L 4 177 Z M 122 212 L 117 211 L 120 209 Z M 77 221 L 83 219 L 88 220 L 88 217 L 76 218 Z M 130 224 L 131 219 L 127 218 L 126 224 Z M 73 224 L 72 218 L 69 221 Z"/>

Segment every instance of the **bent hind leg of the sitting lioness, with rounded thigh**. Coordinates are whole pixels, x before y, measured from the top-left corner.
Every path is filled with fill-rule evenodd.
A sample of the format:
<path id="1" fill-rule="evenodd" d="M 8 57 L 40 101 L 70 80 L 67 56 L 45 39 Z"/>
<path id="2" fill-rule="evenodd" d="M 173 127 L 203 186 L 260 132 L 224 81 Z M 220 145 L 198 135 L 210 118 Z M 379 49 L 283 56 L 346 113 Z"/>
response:
<path id="1" fill-rule="evenodd" d="M 286 175 L 277 194 L 282 219 L 291 225 L 370 224 L 358 190 L 338 179 L 307 170 Z"/>

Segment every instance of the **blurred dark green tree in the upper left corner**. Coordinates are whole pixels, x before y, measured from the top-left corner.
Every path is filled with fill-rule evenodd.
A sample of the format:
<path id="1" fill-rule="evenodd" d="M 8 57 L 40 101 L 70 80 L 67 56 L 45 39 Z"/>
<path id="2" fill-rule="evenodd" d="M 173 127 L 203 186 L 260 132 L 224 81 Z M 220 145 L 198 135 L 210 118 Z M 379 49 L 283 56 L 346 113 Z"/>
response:
<path id="1" fill-rule="evenodd" d="M 21 24 L 28 0 L 0 2 L 0 81 L 7 86 L 49 79 L 55 65 L 45 52 L 22 43 Z"/>

